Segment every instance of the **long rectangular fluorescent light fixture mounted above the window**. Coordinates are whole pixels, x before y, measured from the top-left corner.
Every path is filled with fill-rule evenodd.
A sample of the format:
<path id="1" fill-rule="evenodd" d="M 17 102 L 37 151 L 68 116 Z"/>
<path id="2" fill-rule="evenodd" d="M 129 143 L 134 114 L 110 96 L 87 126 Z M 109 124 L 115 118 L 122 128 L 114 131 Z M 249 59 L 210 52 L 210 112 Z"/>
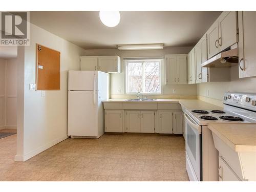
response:
<path id="1" fill-rule="evenodd" d="M 118 45 L 117 48 L 119 50 L 163 49 L 163 44 Z"/>

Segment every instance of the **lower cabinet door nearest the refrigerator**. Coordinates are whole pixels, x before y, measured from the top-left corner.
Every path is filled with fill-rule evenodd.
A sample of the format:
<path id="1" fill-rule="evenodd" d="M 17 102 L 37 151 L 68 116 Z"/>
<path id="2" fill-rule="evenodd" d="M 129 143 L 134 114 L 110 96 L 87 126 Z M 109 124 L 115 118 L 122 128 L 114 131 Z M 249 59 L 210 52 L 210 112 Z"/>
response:
<path id="1" fill-rule="evenodd" d="M 105 132 L 123 132 L 122 110 L 105 110 Z"/>

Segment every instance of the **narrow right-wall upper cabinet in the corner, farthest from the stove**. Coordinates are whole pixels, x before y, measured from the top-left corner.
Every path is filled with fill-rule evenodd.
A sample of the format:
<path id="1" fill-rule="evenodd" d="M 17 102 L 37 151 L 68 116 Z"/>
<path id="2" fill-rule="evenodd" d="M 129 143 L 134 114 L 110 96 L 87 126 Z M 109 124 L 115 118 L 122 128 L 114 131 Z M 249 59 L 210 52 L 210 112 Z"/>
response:
<path id="1" fill-rule="evenodd" d="M 196 83 L 195 48 L 187 55 L 187 81 L 188 84 Z"/>

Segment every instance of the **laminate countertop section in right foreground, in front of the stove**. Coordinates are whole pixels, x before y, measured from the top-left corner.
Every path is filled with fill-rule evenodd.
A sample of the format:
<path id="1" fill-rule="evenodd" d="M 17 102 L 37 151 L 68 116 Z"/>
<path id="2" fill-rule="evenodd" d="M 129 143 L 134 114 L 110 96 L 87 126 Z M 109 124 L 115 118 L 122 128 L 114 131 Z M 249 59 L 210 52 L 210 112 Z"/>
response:
<path id="1" fill-rule="evenodd" d="M 235 152 L 256 152 L 256 124 L 209 123 L 208 128 Z"/>

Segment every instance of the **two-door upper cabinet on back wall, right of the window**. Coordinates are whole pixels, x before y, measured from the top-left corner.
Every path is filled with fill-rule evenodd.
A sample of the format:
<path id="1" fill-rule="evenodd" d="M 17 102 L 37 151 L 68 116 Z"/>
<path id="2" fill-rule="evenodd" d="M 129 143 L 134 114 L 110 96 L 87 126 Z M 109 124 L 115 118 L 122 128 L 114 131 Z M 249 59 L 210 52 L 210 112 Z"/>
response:
<path id="1" fill-rule="evenodd" d="M 187 55 L 165 55 L 165 84 L 187 83 Z"/>

